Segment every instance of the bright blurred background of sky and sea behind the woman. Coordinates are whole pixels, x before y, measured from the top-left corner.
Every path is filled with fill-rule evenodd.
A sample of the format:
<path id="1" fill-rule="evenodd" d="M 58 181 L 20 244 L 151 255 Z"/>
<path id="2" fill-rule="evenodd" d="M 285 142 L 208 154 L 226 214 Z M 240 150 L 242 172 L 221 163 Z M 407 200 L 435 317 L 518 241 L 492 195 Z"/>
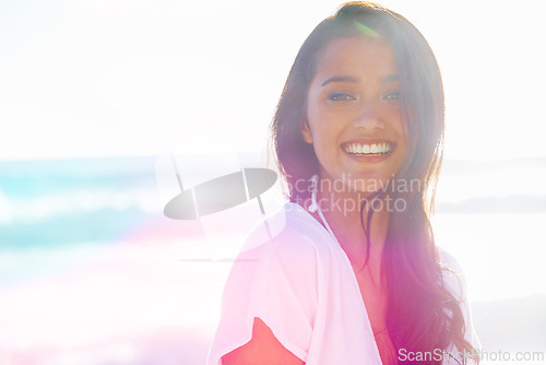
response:
<path id="1" fill-rule="evenodd" d="M 434 225 L 484 350 L 545 356 L 539 2 L 381 3 L 442 70 Z M 170 156 L 185 188 L 264 166 L 296 52 L 340 4 L 0 1 L 0 365 L 204 364 L 228 259 L 261 214 L 165 217 Z M 278 186 L 262 198 L 283 203 Z"/>

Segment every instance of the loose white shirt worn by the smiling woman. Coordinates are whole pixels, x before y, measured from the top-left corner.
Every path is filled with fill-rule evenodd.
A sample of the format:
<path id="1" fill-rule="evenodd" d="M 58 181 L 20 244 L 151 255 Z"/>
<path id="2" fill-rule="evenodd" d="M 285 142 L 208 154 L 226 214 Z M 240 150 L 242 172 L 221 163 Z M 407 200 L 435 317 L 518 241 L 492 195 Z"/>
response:
<path id="1" fill-rule="evenodd" d="M 440 252 L 442 266 L 461 279 L 443 271 L 451 293 L 463 301 L 465 339 L 479 346 L 460 267 L 450 255 Z M 307 365 L 381 364 L 345 251 L 296 203 L 286 203 L 259 224 L 234 262 L 207 365 L 222 364 L 223 355 L 250 341 L 254 317 Z"/>

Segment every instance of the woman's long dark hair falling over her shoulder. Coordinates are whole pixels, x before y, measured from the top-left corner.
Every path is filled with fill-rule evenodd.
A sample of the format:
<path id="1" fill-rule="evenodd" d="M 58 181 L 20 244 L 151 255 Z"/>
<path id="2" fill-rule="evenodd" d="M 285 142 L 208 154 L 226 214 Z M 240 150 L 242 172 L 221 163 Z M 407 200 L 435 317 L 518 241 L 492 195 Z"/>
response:
<path id="1" fill-rule="evenodd" d="M 460 352 L 471 352 L 472 345 L 464 339 L 460 302 L 442 283 L 442 268 L 429 221 L 443 155 L 441 75 L 426 39 L 400 14 L 370 2 L 349 2 L 322 21 L 305 40 L 271 125 L 277 166 L 288 186 L 288 198 L 293 202 L 308 198 L 310 178 L 319 174 L 313 146 L 300 134 L 317 56 L 332 39 L 359 36 L 381 36 L 394 50 L 410 142 L 407 157 L 391 181 L 419 182 L 418 189 L 384 189 L 375 196 L 375 199 L 389 196 L 406 202 L 405 210 L 389 212 L 383 248 L 389 337 L 396 352 L 405 349 L 436 353 L 448 350 L 450 344 Z M 368 255 L 372 214 L 370 209 L 366 220 L 361 220 L 368 237 Z M 423 363 L 439 364 L 441 361 Z"/>

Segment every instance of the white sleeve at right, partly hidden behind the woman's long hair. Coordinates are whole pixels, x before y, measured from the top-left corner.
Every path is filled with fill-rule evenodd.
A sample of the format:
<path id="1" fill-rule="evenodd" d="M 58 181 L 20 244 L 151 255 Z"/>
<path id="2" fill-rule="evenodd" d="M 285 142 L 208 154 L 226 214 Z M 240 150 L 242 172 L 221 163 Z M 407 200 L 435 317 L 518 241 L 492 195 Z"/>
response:
<path id="1" fill-rule="evenodd" d="M 476 335 L 476 332 L 474 331 L 474 325 L 472 321 L 472 311 L 466 290 L 466 280 L 464 278 L 461 266 L 453 256 L 446 252 L 443 249 L 440 249 L 440 260 L 442 268 L 450 269 L 450 270 L 443 270 L 442 272 L 444 285 L 450 291 L 450 293 L 452 293 L 454 297 L 458 301 L 460 301 L 460 307 L 463 314 L 464 325 L 465 325 L 464 339 L 472 344 L 475 351 L 479 351 L 482 349 L 482 343 L 479 342 L 479 339 Z M 453 349 L 453 352 L 460 354 L 459 350 Z M 471 354 L 461 354 L 461 355 L 467 356 L 466 357 L 467 360 L 470 360 L 471 356 Z M 444 361 L 443 364 L 447 365 L 451 363 Z"/>

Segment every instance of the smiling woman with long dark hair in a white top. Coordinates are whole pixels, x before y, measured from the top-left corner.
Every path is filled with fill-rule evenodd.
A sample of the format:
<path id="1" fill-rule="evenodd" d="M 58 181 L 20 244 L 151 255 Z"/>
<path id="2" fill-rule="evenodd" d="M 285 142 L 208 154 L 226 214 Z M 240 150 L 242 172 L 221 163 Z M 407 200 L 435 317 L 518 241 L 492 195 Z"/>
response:
<path id="1" fill-rule="evenodd" d="M 351 2 L 321 22 L 272 123 L 290 202 L 235 262 L 209 364 L 470 363 L 464 281 L 428 220 L 443 130 L 407 20 Z"/>

